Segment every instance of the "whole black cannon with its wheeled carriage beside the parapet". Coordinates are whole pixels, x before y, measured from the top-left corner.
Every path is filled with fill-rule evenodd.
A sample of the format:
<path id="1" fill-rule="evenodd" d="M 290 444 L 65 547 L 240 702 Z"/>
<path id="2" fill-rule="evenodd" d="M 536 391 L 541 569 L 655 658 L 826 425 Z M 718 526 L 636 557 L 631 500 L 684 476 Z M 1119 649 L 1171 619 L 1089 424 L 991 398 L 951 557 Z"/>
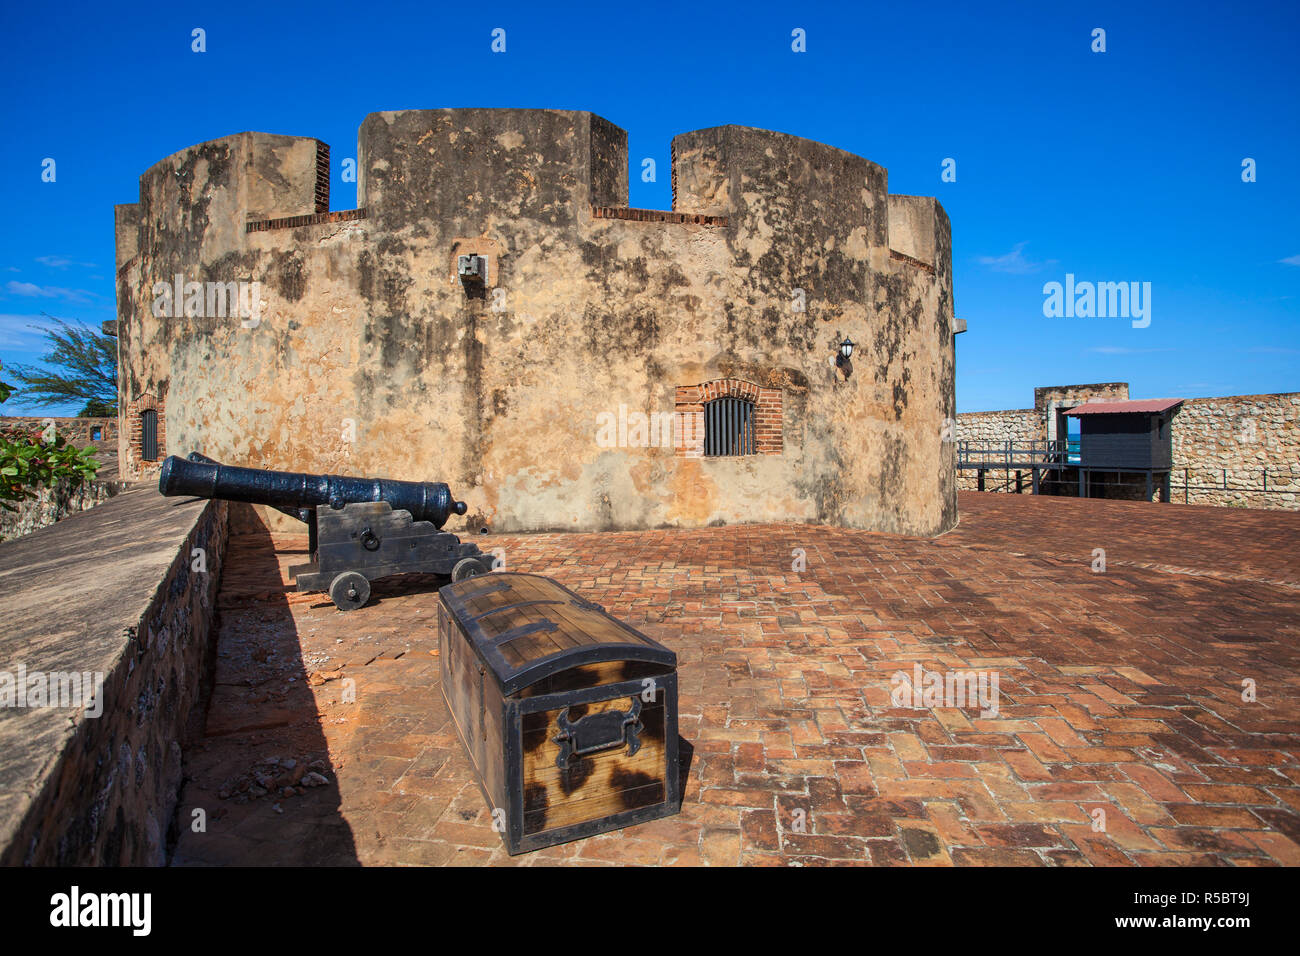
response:
<path id="1" fill-rule="evenodd" d="M 265 505 L 304 522 L 311 561 L 289 574 L 299 591 L 326 591 L 344 611 L 364 606 L 370 581 L 389 575 L 460 581 L 491 570 L 491 555 L 441 531 L 451 515 L 465 514 L 441 481 L 238 468 L 195 451 L 162 462 L 159 492 Z"/>

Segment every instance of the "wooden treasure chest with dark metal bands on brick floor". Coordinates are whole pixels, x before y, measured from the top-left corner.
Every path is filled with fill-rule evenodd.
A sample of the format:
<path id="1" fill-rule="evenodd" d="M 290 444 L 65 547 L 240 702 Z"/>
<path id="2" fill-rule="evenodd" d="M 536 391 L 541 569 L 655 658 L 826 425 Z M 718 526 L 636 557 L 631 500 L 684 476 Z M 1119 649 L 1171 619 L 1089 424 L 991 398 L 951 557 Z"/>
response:
<path id="1" fill-rule="evenodd" d="M 673 652 L 540 575 L 438 593 L 442 693 L 511 853 L 679 810 Z"/>

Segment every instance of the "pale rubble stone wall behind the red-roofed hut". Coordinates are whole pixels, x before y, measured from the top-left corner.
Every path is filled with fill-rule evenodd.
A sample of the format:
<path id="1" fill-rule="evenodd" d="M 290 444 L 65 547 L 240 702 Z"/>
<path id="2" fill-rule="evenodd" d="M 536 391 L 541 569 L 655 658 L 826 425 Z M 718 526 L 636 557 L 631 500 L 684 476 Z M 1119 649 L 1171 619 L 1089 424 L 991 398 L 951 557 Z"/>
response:
<path id="1" fill-rule="evenodd" d="M 1045 418 L 1036 408 L 962 412 L 957 416 L 956 437 L 958 441 L 1041 441 L 1046 438 L 1045 428 Z M 1190 398 L 1174 415 L 1170 434 L 1174 450 L 1171 501 L 1300 510 L 1300 393 Z M 1264 490 L 1265 470 L 1268 492 Z M 1225 477 L 1227 489 L 1223 488 Z M 957 475 L 961 490 L 975 490 L 976 483 L 974 471 Z M 1026 472 L 1026 490 L 1028 485 Z M 989 471 L 984 488 L 1014 492 L 1014 473 L 1006 485 L 1001 471 Z M 1141 498 L 1145 486 L 1130 479 L 1128 486 L 1106 488 L 1106 494 Z"/>

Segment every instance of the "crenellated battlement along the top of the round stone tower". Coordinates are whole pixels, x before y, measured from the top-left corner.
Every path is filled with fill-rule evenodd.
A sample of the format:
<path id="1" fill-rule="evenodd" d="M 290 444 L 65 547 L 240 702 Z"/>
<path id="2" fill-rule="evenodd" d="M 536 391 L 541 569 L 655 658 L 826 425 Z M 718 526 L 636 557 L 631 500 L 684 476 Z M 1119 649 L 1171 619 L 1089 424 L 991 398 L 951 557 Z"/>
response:
<path id="1" fill-rule="evenodd" d="M 529 220 L 578 230 L 595 220 L 796 235 L 842 229 L 841 254 L 941 264 L 948 217 L 928 196 L 888 194 L 884 168 L 833 146 L 749 126 L 671 144 L 673 208 L 628 207 L 628 137 L 582 111 L 447 108 L 368 114 L 358 133 L 358 209 L 329 209 L 326 143 L 239 133 L 191 146 L 140 177 L 116 208 L 117 263 L 176 246 L 195 267 L 244 237 L 367 219 L 373 233 L 482 235 Z M 166 222 L 160 222 L 160 217 Z M 878 268 L 883 260 L 876 260 Z"/>

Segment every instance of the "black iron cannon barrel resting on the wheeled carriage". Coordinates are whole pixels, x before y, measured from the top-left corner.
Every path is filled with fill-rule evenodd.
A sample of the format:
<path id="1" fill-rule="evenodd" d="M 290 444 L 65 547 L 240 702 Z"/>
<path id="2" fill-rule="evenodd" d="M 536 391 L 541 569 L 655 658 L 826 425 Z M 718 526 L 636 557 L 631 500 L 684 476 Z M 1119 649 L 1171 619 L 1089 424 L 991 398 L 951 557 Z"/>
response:
<path id="1" fill-rule="evenodd" d="M 359 501 L 386 501 L 394 511 L 410 511 L 413 520 L 432 522 L 436 528 L 446 524 L 451 515 L 463 515 L 467 510 L 465 502 L 452 498 L 451 489 L 442 481 L 394 481 L 239 468 L 214 462 L 198 451 L 188 459 L 170 455 L 162 462 L 159 492 L 268 505 L 286 514 L 320 506 L 339 509 Z"/>

